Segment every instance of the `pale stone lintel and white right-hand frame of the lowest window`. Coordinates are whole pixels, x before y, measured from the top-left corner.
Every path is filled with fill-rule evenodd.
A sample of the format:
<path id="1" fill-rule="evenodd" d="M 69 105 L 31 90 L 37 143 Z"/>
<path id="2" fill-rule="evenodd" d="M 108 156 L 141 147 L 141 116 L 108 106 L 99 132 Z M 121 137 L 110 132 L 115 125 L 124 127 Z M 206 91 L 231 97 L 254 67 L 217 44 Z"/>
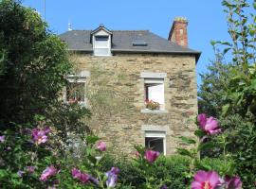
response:
<path id="1" fill-rule="evenodd" d="M 166 126 L 155 126 L 155 125 L 142 125 L 141 126 L 141 135 L 143 138 L 145 138 L 147 136 L 147 132 L 148 133 L 152 133 L 155 134 L 155 136 L 159 136 L 160 138 L 164 138 L 163 143 L 164 143 L 164 155 L 166 155 L 166 136 L 168 136 L 170 134 L 170 128 L 168 125 Z M 165 135 L 163 137 L 163 135 Z"/>

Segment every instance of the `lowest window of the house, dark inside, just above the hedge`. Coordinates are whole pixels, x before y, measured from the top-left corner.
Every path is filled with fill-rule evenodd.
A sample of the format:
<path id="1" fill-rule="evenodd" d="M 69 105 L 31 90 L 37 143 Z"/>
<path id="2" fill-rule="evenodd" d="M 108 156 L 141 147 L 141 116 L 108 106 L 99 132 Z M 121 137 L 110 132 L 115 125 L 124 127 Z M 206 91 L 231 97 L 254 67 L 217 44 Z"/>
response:
<path id="1" fill-rule="evenodd" d="M 145 131 L 145 147 L 166 155 L 166 134 L 162 131 Z"/>

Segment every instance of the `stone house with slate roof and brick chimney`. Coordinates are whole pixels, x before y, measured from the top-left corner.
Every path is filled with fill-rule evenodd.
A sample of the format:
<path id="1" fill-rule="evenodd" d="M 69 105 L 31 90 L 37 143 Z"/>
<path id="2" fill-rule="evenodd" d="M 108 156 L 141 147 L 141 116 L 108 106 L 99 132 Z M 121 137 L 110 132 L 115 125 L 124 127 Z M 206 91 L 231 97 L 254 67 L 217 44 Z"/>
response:
<path id="1" fill-rule="evenodd" d="M 116 152 L 133 153 L 133 146 L 142 145 L 172 154 L 182 145 L 177 136 L 192 136 L 195 126 L 189 118 L 197 113 L 195 65 L 200 52 L 188 48 L 187 26 L 186 19 L 176 18 L 168 39 L 149 30 L 102 25 L 60 35 L 78 69 L 68 76 L 64 100 L 78 100 L 94 110 L 90 87 L 107 87 L 111 97 L 104 101 L 102 92 L 100 101 L 113 107 L 96 109 L 103 124 L 90 128 Z M 95 67 L 101 68 L 98 75 Z"/>

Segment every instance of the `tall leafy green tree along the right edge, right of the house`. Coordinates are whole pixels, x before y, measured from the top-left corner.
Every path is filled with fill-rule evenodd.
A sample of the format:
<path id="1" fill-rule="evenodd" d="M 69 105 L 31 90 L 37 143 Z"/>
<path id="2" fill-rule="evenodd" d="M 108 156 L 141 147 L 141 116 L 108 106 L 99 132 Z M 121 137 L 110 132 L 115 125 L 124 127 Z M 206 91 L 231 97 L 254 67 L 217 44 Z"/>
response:
<path id="1" fill-rule="evenodd" d="M 220 72 L 219 64 L 214 62 L 212 75 L 203 77 L 199 94 L 209 101 L 203 101 L 205 107 L 201 111 L 210 110 L 207 113 L 219 118 L 224 133 L 213 140 L 221 144 L 225 136 L 227 153 L 236 163 L 244 188 L 253 188 L 256 180 L 256 146 L 252 145 L 256 144 L 256 15 L 250 12 L 255 12 L 256 1 L 249 4 L 246 0 L 224 0 L 222 4 L 227 12 L 231 40 L 212 44 L 229 64 L 221 60 L 224 67 Z"/>

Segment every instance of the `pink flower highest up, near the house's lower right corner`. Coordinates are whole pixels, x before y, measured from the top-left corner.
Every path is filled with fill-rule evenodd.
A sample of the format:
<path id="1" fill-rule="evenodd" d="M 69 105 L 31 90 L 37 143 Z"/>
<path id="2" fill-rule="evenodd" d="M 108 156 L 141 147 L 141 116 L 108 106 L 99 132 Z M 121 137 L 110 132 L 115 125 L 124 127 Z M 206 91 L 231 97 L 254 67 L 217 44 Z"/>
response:
<path id="1" fill-rule="evenodd" d="M 208 134 L 216 134 L 221 132 L 219 129 L 218 121 L 214 117 L 207 118 L 205 113 L 201 113 L 197 116 L 200 129 L 204 130 Z"/>

